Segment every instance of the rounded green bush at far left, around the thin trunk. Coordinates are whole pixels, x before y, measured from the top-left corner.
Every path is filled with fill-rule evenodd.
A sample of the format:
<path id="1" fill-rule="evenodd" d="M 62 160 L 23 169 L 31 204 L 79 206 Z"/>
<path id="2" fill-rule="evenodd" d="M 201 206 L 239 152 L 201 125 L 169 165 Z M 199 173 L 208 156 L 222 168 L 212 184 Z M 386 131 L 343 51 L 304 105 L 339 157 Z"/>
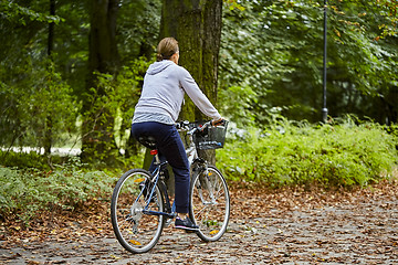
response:
<path id="1" fill-rule="evenodd" d="M 77 108 L 72 89 L 51 61 L 36 63 L 35 67 L 32 61 L 28 63 L 21 68 L 24 75 L 0 91 L 0 145 L 43 147 L 48 130 L 56 135 L 53 145 L 64 145 L 76 131 Z M 0 70 L 1 77 L 7 74 Z"/>

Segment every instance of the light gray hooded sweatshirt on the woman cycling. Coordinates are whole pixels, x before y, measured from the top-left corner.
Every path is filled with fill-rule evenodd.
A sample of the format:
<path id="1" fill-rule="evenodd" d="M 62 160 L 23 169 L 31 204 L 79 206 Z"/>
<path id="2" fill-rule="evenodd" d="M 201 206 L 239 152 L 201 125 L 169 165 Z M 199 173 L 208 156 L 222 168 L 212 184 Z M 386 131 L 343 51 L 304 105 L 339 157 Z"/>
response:
<path id="1" fill-rule="evenodd" d="M 185 93 L 205 115 L 212 119 L 221 118 L 189 72 L 172 61 L 164 60 L 149 65 L 146 72 L 133 123 L 165 120 L 154 119 L 157 115 L 175 123 L 181 110 Z"/>

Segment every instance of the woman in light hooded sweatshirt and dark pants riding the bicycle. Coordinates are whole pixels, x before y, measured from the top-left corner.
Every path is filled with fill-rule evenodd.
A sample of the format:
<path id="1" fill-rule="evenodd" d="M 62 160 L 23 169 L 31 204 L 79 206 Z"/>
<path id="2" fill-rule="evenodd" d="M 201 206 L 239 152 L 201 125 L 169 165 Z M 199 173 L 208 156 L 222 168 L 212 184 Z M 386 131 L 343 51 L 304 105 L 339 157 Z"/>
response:
<path id="1" fill-rule="evenodd" d="M 142 96 L 135 107 L 132 132 L 135 138 L 153 136 L 159 153 L 175 173 L 175 226 L 198 230 L 187 216 L 189 208 L 189 163 L 182 140 L 175 127 L 185 93 L 213 123 L 222 120 L 187 70 L 178 65 L 179 49 L 174 38 L 163 39 L 157 46 L 157 62 L 149 65 L 144 77 Z"/>

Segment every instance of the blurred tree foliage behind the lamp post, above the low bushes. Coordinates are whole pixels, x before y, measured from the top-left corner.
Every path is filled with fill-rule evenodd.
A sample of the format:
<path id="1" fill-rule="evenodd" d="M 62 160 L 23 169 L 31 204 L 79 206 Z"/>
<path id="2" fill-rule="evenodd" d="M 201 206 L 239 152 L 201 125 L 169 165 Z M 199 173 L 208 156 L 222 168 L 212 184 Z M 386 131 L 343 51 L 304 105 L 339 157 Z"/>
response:
<path id="1" fill-rule="evenodd" d="M 252 113 L 258 127 L 266 123 L 272 107 L 281 107 L 290 119 L 318 121 L 323 106 L 323 4 L 304 0 L 239 3 L 244 11 L 224 9 L 223 13 L 220 89 L 227 93 L 230 87 L 249 86 L 254 91 L 251 104 L 243 108 Z M 396 12 L 396 3 L 385 0 L 328 1 L 331 115 L 354 113 L 383 124 L 397 121 Z M 226 102 L 223 106 L 233 104 Z M 232 116 L 241 108 L 230 109 Z"/>

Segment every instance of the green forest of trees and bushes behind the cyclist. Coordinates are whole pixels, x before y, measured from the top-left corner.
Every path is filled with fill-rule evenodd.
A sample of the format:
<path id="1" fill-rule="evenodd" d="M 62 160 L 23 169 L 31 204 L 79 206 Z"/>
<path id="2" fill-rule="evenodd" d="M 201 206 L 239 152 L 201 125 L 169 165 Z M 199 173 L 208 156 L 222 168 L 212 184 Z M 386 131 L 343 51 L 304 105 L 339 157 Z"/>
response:
<path id="1" fill-rule="evenodd" d="M 328 1 L 324 123 L 324 1 L 1 0 L 1 211 L 73 208 L 140 167 L 129 128 L 145 71 L 172 20 L 205 9 L 221 10 L 222 23 L 202 18 L 205 29 L 216 25 L 210 33 L 219 24 L 216 63 L 196 67 L 196 51 L 182 49 L 193 33 L 205 43 L 202 28 L 180 23 L 177 39 L 199 85 L 203 68 L 216 73 L 216 89 L 201 88 L 231 120 L 217 151 L 229 181 L 350 187 L 389 178 L 398 161 L 397 6 Z M 197 119 L 187 105 L 181 118 Z M 41 151 L 21 152 L 28 147 Z"/>

